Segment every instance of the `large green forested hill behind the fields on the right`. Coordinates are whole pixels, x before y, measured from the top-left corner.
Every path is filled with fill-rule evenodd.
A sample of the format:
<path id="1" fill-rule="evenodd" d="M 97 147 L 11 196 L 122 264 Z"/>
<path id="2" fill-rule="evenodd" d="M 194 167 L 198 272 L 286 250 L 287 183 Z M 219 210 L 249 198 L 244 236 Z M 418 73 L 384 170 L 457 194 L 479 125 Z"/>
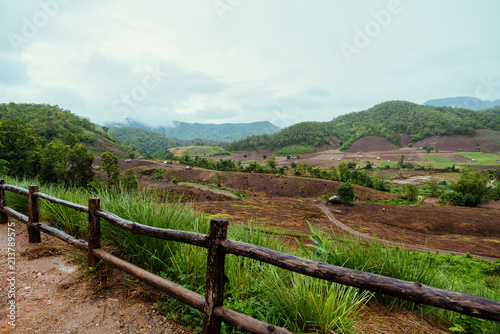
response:
<path id="1" fill-rule="evenodd" d="M 278 150 L 291 145 L 329 144 L 327 136 L 340 139 L 347 149 L 357 139 L 380 136 L 401 146 L 398 133 L 412 142 L 435 135 L 474 136 L 475 129 L 500 131 L 500 115 L 463 108 L 434 107 L 406 101 L 389 101 L 360 112 L 339 116 L 329 122 L 303 122 L 272 135 L 251 136 L 230 143 L 230 151 Z"/>

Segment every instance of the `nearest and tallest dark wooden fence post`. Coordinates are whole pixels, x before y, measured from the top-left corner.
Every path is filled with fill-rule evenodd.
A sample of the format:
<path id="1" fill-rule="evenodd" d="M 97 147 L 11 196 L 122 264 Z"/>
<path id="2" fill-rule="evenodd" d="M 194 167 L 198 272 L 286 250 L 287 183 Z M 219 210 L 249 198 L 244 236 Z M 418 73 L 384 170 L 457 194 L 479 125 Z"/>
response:
<path id="1" fill-rule="evenodd" d="M 207 278 L 205 286 L 205 307 L 203 310 L 203 334 L 219 334 L 221 321 L 213 317 L 214 308 L 224 301 L 224 258 L 220 243 L 226 239 L 228 221 L 212 219 L 208 239 Z"/>

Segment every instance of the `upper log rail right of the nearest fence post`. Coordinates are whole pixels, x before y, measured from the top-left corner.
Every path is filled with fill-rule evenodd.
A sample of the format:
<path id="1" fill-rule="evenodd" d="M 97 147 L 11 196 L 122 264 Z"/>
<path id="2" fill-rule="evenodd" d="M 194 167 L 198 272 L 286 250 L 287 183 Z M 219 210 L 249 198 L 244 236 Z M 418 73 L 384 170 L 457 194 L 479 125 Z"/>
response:
<path id="1" fill-rule="evenodd" d="M 500 322 L 500 302 L 496 300 L 333 266 L 228 239 L 221 242 L 221 248 L 228 254 L 245 256 L 299 274 Z"/>

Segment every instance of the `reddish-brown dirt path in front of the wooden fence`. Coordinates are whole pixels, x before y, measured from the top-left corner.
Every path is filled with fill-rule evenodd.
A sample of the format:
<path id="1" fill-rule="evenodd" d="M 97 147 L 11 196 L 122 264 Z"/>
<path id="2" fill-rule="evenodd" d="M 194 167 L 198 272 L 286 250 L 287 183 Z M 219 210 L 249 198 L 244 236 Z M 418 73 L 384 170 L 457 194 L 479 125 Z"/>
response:
<path id="1" fill-rule="evenodd" d="M 71 260 L 77 254 L 84 263 L 85 254 L 59 239 L 29 244 L 24 224 L 0 225 L 0 249 L 0 333 L 189 333 L 152 307 L 165 299 L 157 291 L 105 265 L 87 277 Z"/>

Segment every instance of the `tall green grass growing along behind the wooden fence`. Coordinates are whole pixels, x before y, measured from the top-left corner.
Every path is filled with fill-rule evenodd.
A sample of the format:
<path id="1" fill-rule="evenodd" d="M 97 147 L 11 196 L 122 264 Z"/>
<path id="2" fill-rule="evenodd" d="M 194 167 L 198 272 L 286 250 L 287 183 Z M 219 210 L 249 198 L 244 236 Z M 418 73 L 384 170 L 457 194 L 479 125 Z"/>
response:
<path id="1" fill-rule="evenodd" d="M 27 188 L 33 180 L 6 183 Z M 193 206 L 180 202 L 165 202 L 148 193 L 109 191 L 105 188 L 88 190 L 41 186 L 48 195 L 86 205 L 89 197 L 99 197 L 101 207 L 120 217 L 161 228 L 208 233 L 209 217 L 200 215 Z M 7 205 L 25 211 L 26 197 L 7 192 Z M 24 210 L 23 210 L 24 208 Z M 87 216 L 71 209 L 41 200 L 42 217 L 62 228 L 84 237 Z M 149 238 L 101 223 L 103 244 L 120 257 L 165 277 L 200 294 L 204 293 L 206 250 L 203 248 Z M 401 245 L 387 248 L 380 242 L 366 243 L 355 239 L 331 239 L 313 229 L 311 247 L 302 251 L 290 249 L 279 232 L 258 228 L 253 223 L 232 225 L 228 238 L 275 249 L 293 255 L 369 271 L 389 277 L 500 300 L 500 261 L 489 263 L 471 256 L 457 257 L 434 253 L 409 252 Z M 261 321 L 286 327 L 294 332 L 352 332 L 357 312 L 372 294 L 355 288 L 313 279 L 278 269 L 245 257 L 227 255 L 226 299 L 224 305 Z M 437 319 L 456 324 L 471 332 L 477 328 L 494 333 L 500 324 L 478 321 L 453 312 L 419 306 L 392 297 L 375 294 L 383 303 L 409 309 L 421 309 Z M 200 313 L 172 298 L 157 303 L 169 317 L 201 327 Z M 471 320 L 472 319 L 472 320 Z M 479 327 L 478 327 L 479 326 Z M 224 325 L 224 332 L 235 328 Z"/>

